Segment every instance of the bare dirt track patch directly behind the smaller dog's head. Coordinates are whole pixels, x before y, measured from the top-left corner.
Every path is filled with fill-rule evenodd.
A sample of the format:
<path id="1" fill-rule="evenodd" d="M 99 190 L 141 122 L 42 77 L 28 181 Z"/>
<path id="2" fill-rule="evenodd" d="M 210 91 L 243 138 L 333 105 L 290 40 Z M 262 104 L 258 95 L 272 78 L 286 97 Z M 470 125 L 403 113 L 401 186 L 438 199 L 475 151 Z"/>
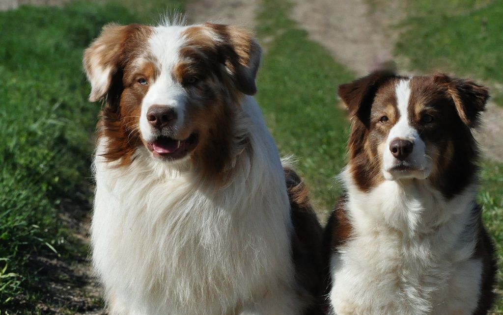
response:
<path id="1" fill-rule="evenodd" d="M 393 59 L 398 32 L 391 26 L 404 18 L 403 2 L 370 6 L 368 0 L 295 0 L 295 4 L 292 18 L 311 40 L 357 75 Z"/>

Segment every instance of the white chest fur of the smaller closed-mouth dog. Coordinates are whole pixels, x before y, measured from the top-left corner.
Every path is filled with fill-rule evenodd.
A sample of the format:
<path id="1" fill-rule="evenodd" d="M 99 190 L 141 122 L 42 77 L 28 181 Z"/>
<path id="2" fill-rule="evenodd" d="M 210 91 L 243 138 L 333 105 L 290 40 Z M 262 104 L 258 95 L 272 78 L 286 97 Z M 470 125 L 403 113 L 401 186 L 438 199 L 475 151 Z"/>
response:
<path id="1" fill-rule="evenodd" d="M 408 94 L 397 93 L 398 102 L 407 104 Z M 406 99 L 400 99 L 403 95 Z M 471 258 L 477 239 L 471 216 L 476 184 L 446 200 L 418 178 L 386 180 L 362 191 L 349 168 L 341 177 L 353 238 L 331 256 L 332 312 L 471 314 L 482 266 Z"/>

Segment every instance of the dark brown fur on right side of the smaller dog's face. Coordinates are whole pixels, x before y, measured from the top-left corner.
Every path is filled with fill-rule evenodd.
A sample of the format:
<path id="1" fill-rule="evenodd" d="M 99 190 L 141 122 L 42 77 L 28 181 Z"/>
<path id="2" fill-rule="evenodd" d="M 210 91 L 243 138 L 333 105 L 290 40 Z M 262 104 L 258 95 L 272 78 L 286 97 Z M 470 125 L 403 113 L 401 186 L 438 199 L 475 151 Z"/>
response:
<path id="1" fill-rule="evenodd" d="M 412 126 L 416 128 L 427 147 L 427 155 L 433 160 L 433 170 L 429 180 L 434 187 L 450 199 L 463 191 L 474 180 L 478 171 L 476 160 L 478 159 L 478 146 L 473 138 L 471 127 L 466 122 L 466 117 L 460 115 L 459 108 L 483 109 L 479 103 L 456 104 L 456 102 L 480 100 L 473 96 L 452 93 L 452 85 L 466 82 L 461 79 L 451 79 L 443 75 L 414 77 L 410 81 L 409 112 Z M 483 94 L 486 89 L 474 84 L 473 88 Z M 472 86 L 472 85 L 470 85 Z M 458 92 L 456 92 L 458 93 Z M 473 92 L 475 93 L 475 92 Z M 476 94 L 478 95 L 478 94 Z M 458 99 L 456 99 L 458 97 Z M 431 104 L 437 111 L 432 126 L 423 126 L 420 123 L 421 109 L 425 104 Z M 470 116 L 471 124 L 474 124 L 476 114 Z M 456 158 L 462 156 L 463 158 Z M 463 170 L 462 172 L 459 170 Z"/>

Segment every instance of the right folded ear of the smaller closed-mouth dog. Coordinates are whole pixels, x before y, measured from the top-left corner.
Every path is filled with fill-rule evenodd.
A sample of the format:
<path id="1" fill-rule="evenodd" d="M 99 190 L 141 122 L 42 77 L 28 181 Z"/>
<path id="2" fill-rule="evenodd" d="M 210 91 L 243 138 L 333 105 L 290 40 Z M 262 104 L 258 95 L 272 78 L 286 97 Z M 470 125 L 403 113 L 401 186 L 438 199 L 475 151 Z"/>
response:
<path id="1" fill-rule="evenodd" d="M 476 127 L 480 113 L 485 110 L 489 88 L 471 80 L 450 78 L 443 73 L 434 75 L 434 79 L 435 82 L 448 86 L 461 121 L 468 127 Z"/>

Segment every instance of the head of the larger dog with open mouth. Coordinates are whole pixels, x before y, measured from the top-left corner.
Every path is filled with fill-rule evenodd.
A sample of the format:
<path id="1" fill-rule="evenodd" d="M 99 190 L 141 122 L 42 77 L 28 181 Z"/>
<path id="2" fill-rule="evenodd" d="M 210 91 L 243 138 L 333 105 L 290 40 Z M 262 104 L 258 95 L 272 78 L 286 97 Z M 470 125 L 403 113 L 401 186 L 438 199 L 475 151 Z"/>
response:
<path id="1" fill-rule="evenodd" d="M 141 154 L 163 163 L 223 167 L 239 99 L 257 90 L 260 57 L 250 33 L 232 26 L 104 27 L 83 58 L 90 100 L 106 101 L 104 156 L 126 165 L 146 148 Z"/>

